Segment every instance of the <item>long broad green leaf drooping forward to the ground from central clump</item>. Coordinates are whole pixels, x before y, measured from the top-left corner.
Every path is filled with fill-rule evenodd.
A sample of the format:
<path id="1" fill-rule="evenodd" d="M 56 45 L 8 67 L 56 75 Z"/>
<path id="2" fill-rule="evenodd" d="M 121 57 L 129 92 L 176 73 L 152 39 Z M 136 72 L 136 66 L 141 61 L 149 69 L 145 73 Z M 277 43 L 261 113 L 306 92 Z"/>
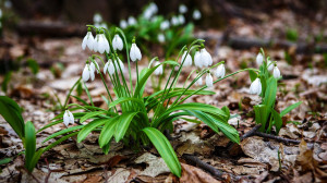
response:
<path id="1" fill-rule="evenodd" d="M 182 168 L 181 163 L 175 156 L 175 152 L 173 151 L 173 148 L 171 147 L 169 141 L 166 138 L 166 136 L 154 127 L 145 127 L 142 130 L 148 138 L 152 141 L 165 162 L 167 163 L 170 171 L 177 175 L 178 178 L 181 178 L 182 174 Z"/>

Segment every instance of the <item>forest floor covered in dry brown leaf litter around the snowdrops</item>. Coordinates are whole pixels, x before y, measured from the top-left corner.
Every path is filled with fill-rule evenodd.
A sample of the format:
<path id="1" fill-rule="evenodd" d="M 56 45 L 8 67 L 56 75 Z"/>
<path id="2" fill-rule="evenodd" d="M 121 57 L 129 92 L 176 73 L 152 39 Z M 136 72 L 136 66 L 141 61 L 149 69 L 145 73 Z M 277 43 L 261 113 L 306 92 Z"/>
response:
<path id="1" fill-rule="evenodd" d="M 282 26 L 291 26 L 301 19 L 290 19 L 290 15 L 292 14 L 289 12 L 282 12 L 269 17 L 269 21 L 264 21 L 269 22 L 270 26 L 268 23 L 247 25 L 241 20 L 233 20 L 231 33 L 235 36 L 284 39 L 280 36 L 286 33 Z M 258 17 L 268 19 L 264 15 Z M 317 30 L 316 34 L 327 35 L 322 28 L 326 21 L 320 25 L 306 24 L 305 21 L 308 20 L 302 23 L 308 26 L 298 26 L 300 39 L 306 40 L 310 37 L 307 35 L 315 34 L 302 30 L 306 28 L 320 29 L 322 32 Z M 255 57 L 259 48 L 240 50 L 219 44 L 219 35 L 223 35 L 220 30 L 197 32 L 197 35 L 203 34 L 207 37 L 214 63 L 225 60 L 227 73 L 247 66 L 256 68 Z M 218 38 L 215 35 L 218 35 Z M 11 35 L 5 41 L 11 46 L 1 47 L 1 50 L 9 51 L 11 59 L 28 57 L 40 65 L 37 74 L 33 74 L 27 66 L 13 72 L 7 94 L 24 109 L 24 120 L 32 121 L 36 130 L 39 130 L 60 112 L 57 97 L 61 102 L 64 101 L 69 89 L 82 75 L 85 60 L 90 52 L 82 51 L 82 38 L 76 37 L 21 38 Z M 288 49 L 264 49 L 271 60 L 277 61 L 283 77 L 279 83 L 276 109 L 281 111 L 294 102 L 303 101 L 282 119 L 283 126 L 278 134 L 282 139 L 274 139 L 274 135 L 263 137 L 252 133 L 237 145 L 203 123 L 193 124 L 178 120 L 173 123 L 173 141 L 170 142 L 183 169 L 182 176 L 177 179 L 155 148 L 135 152 L 121 143 L 112 143 L 109 154 L 104 155 L 97 143 L 99 134 L 92 133 L 82 143 L 72 137 L 44 154 L 34 169 L 33 178 L 22 168 L 23 157 L 17 156 L 23 150 L 21 139 L 1 118 L 0 155 L 1 158 L 13 159 L 10 163 L 1 166 L 0 182 L 325 182 L 327 54 L 299 53 L 294 51 L 295 46 Z M 147 64 L 148 59 L 144 58 L 140 68 Z M 187 71 L 182 72 L 179 85 L 183 85 L 187 75 Z M 3 78 L 1 75 L 0 81 Z M 229 123 L 242 136 L 255 127 L 253 106 L 261 102 L 258 96 L 249 94 L 250 84 L 249 74 L 240 73 L 214 85 L 211 90 L 215 95 L 195 96 L 185 102 L 205 102 L 219 108 L 227 106 L 234 115 Z M 101 98 L 106 95 L 106 88 L 100 77 L 97 76 L 87 86 L 95 105 L 106 108 Z M 152 84 L 148 83 L 145 95 L 152 93 Z M 82 94 L 81 97 L 87 100 L 86 94 Z M 70 102 L 77 101 L 70 98 Z M 41 142 L 64 127 L 64 124 L 58 124 L 37 134 L 37 147 L 46 146 L 47 143 Z M 288 139 L 294 141 L 290 143 Z"/>

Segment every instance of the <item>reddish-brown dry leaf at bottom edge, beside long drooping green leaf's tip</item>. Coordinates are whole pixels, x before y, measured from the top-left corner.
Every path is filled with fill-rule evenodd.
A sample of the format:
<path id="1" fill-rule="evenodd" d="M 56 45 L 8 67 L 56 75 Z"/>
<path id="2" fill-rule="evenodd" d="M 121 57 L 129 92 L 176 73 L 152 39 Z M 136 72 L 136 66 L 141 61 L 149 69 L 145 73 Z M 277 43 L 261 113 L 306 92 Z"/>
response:
<path id="1" fill-rule="evenodd" d="M 180 178 L 181 183 L 191 183 L 191 182 L 219 183 L 220 182 L 196 167 L 189 166 L 185 163 L 181 163 L 181 166 L 182 166 L 182 176 Z"/>

